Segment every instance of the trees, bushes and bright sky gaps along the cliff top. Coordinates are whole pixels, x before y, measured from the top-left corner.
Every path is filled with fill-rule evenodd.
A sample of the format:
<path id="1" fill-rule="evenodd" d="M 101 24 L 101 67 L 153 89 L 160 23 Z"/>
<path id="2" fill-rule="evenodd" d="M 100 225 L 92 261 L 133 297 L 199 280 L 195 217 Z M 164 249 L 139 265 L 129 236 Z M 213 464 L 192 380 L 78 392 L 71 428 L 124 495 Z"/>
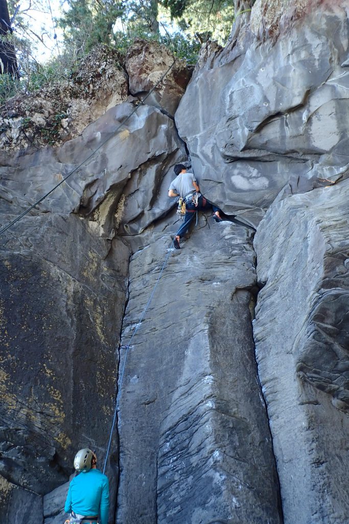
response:
<path id="1" fill-rule="evenodd" d="M 65 0 L 59 9 L 58 0 L 33 0 L 30 10 L 17 0 L 0 3 L 5 13 L 0 22 L 0 105 L 16 94 L 70 79 L 81 59 L 101 44 L 125 56 L 137 38 L 156 40 L 193 64 L 203 42 L 227 41 L 240 4 L 237 0 Z M 46 13 L 40 26 L 33 20 L 33 8 L 41 17 Z M 54 47 L 40 60 L 37 49 L 52 31 Z"/>

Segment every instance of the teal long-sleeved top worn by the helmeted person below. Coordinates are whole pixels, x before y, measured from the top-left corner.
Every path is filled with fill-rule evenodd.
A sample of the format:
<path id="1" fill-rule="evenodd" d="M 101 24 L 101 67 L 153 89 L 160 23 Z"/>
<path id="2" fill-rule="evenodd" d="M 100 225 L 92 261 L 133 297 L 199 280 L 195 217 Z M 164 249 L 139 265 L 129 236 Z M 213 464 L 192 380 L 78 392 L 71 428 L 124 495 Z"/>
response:
<path id="1" fill-rule="evenodd" d="M 108 478 L 96 469 L 78 474 L 69 485 L 64 511 L 88 517 L 99 515 L 100 524 L 108 524 Z"/>

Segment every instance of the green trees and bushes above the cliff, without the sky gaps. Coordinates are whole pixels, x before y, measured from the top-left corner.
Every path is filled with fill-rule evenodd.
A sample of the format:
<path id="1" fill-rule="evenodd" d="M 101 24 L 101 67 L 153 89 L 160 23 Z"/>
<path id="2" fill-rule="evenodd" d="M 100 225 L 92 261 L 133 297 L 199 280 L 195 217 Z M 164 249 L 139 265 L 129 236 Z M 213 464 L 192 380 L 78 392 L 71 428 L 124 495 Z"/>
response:
<path id="1" fill-rule="evenodd" d="M 16 1 L 8 0 L 10 16 Z M 42 0 L 33 3 L 40 9 Z M 202 42 L 209 38 L 226 42 L 234 20 L 233 4 L 234 0 L 65 0 L 68 8 L 58 20 L 64 49 L 60 56 L 44 64 L 34 58 L 35 45 L 30 38 L 33 31 L 18 12 L 10 38 L 16 49 L 20 79 L 0 75 L 0 104 L 17 93 L 69 79 L 78 68 L 78 58 L 101 43 L 125 54 L 136 38 L 156 40 L 177 58 L 194 64 Z M 116 31 L 116 27 L 120 30 Z M 40 39 L 40 35 L 36 36 Z"/>

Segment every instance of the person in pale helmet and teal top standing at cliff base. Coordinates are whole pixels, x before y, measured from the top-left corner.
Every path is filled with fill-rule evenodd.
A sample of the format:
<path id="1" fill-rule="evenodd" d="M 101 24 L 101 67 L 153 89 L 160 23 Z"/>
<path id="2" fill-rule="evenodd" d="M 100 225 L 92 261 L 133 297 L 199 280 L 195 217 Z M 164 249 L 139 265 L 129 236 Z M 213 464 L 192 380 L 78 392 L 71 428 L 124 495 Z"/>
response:
<path id="1" fill-rule="evenodd" d="M 71 517 L 64 524 L 108 524 L 109 482 L 106 475 L 97 470 L 96 453 L 87 447 L 79 450 L 74 467 L 78 475 L 69 485 L 64 506 Z"/>

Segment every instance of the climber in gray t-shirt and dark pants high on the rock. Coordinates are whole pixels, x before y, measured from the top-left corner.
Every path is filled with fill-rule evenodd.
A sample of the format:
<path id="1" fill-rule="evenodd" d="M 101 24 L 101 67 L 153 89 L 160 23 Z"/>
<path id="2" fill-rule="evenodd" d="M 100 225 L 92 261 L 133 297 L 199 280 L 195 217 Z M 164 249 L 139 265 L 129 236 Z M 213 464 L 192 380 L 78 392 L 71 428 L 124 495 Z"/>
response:
<path id="1" fill-rule="evenodd" d="M 221 222 L 222 219 L 219 214 L 220 209 L 208 202 L 200 193 L 198 183 L 193 173 L 187 171 L 183 164 L 176 164 L 174 172 L 176 178 L 171 182 L 170 188 L 168 188 L 168 196 L 180 196 L 185 202 L 184 221 L 181 227 L 179 227 L 174 239 L 174 247 L 181 249 L 179 239 L 188 231 L 189 224 L 194 219 L 196 211 L 205 210 L 209 206 L 212 206 L 213 218 L 216 222 Z M 195 202 L 195 198 L 197 198 L 197 202 Z"/>

